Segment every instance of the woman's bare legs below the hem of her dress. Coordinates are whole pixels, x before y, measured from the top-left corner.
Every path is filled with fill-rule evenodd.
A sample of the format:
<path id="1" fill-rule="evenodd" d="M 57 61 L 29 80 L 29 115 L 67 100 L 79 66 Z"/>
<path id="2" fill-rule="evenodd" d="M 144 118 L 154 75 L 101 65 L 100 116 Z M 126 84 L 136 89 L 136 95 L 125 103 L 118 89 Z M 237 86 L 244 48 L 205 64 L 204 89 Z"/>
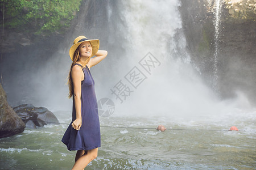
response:
<path id="1" fill-rule="evenodd" d="M 76 162 L 72 169 L 84 169 L 93 159 L 97 158 L 97 155 L 98 148 L 94 148 L 92 150 L 87 151 L 87 154 L 85 151 L 77 151 Z"/>

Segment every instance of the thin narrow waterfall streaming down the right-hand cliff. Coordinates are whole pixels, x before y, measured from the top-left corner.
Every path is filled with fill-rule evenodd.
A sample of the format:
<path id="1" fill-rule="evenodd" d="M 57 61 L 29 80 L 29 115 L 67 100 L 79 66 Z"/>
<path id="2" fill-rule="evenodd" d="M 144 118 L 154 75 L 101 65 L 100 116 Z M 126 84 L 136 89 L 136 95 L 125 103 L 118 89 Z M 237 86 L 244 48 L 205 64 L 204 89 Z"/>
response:
<path id="1" fill-rule="evenodd" d="M 213 54 L 213 88 L 218 91 L 218 52 L 219 52 L 219 35 L 220 35 L 220 18 L 221 18 L 221 0 L 215 1 L 214 11 L 214 54 Z"/>

